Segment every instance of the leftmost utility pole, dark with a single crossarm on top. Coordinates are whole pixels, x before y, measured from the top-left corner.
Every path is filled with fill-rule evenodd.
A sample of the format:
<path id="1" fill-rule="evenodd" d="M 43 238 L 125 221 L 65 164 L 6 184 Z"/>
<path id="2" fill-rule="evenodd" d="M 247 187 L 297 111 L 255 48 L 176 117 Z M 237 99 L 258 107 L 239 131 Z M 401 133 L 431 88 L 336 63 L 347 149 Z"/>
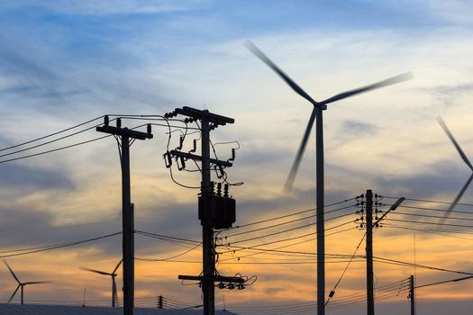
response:
<path id="1" fill-rule="evenodd" d="M 113 134 L 121 139 L 119 153 L 122 166 L 123 315 L 132 315 L 134 305 L 134 207 L 130 189 L 130 139 L 152 139 L 153 135 L 150 124 L 147 132 L 141 132 L 126 127 L 122 128 L 120 118 L 116 120 L 116 127 L 109 126 L 108 122 L 108 116 L 105 116 L 104 126 L 97 127 L 96 130 Z"/>

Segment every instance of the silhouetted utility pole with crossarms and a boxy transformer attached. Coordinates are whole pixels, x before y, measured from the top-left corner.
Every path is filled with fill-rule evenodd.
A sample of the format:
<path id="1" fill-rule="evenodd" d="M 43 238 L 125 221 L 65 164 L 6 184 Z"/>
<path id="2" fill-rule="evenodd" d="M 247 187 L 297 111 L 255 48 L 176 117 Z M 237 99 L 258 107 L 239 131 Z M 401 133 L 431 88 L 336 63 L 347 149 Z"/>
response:
<path id="1" fill-rule="evenodd" d="M 200 121 L 200 129 L 202 131 L 201 154 L 196 156 L 191 153 L 172 150 L 168 154 L 177 158 L 191 158 L 200 160 L 202 163 L 202 182 L 199 197 L 199 219 L 202 225 L 202 260 L 203 275 L 179 275 L 182 280 L 198 280 L 202 284 L 202 293 L 204 295 L 204 314 L 214 315 L 215 313 L 215 281 L 221 284 L 229 283 L 234 288 L 234 284 L 242 284 L 244 280 L 241 277 L 225 277 L 215 275 L 215 244 L 214 229 L 224 229 L 232 226 L 235 221 L 235 201 L 228 195 L 222 196 L 220 193 L 214 195 L 211 189 L 211 163 L 214 166 L 232 166 L 229 161 L 221 161 L 210 157 L 210 130 L 217 128 L 219 125 L 233 123 L 234 120 L 229 117 L 214 114 L 207 110 L 197 110 L 195 108 L 184 106 L 182 109 L 177 108 L 174 112 L 167 113 L 166 118 L 176 116 L 177 114 L 190 117 L 190 121 Z M 187 119 L 187 121 L 189 121 Z M 181 162 L 182 163 L 182 162 Z M 221 184 L 219 184 L 221 189 Z M 227 186 L 228 187 L 228 186 Z M 226 188 L 228 192 L 228 188 Z M 220 191 L 221 192 L 221 191 Z M 226 193 L 225 193 L 226 194 Z M 230 288 L 230 287 L 229 287 Z"/>

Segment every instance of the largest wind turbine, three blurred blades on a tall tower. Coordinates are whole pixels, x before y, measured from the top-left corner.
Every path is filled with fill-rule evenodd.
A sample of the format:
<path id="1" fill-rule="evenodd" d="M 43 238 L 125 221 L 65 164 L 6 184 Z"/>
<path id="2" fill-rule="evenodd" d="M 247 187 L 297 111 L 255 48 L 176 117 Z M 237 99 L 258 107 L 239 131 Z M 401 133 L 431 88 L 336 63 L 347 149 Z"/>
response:
<path id="1" fill-rule="evenodd" d="M 299 149 L 297 150 L 296 159 L 291 167 L 289 175 L 287 176 L 287 181 L 285 184 L 285 190 L 289 192 L 292 189 L 294 180 L 296 179 L 297 169 L 301 164 L 302 157 L 304 155 L 305 147 L 307 146 L 307 140 L 309 139 L 310 132 L 314 126 L 314 121 L 317 119 L 315 124 L 315 157 L 316 157 L 316 227 L 317 227 L 317 314 L 323 315 L 324 302 L 325 302 L 325 237 L 324 237 L 324 200 L 323 200 L 323 110 L 327 109 L 328 103 L 333 103 L 340 101 L 344 98 L 368 92 L 370 90 L 377 89 L 379 87 L 394 85 L 399 82 L 411 79 L 412 74 L 405 73 L 400 76 L 394 76 L 388 78 L 387 80 L 377 82 L 372 85 L 362 86 L 350 91 L 342 92 L 340 94 L 335 94 L 330 98 L 322 102 L 316 102 L 309 94 L 296 84 L 287 74 L 276 66 L 258 47 L 256 47 L 250 40 L 245 43 L 245 46 L 250 49 L 250 51 L 263 61 L 268 67 L 270 67 L 274 72 L 277 73 L 286 83 L 289 85 L 296 94 L 304 97 L 307 101 L 314 105 L 311 117 L 305 128 L 304 136 L 302 138 Z"/>

